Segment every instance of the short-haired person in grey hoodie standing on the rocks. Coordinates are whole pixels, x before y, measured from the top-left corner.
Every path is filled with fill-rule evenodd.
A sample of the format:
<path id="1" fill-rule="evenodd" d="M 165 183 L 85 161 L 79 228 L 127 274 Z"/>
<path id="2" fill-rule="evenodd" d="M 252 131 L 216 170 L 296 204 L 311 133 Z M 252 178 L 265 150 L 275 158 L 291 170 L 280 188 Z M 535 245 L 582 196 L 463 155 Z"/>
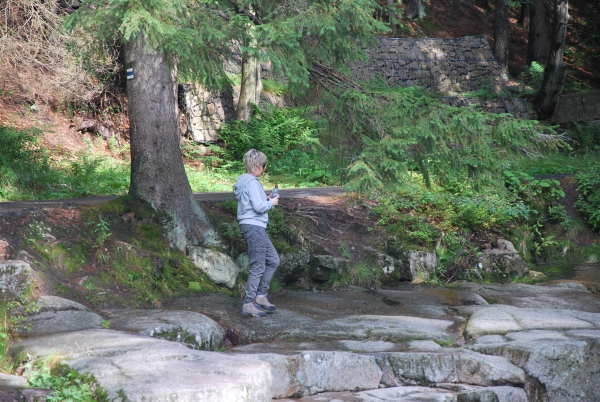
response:
<path id="1" fill-rule="evenodd" d="M 246 173 L 233 186 L 238 200 L 240 232 L 248 245 L 250 258 L 250 275 L 246 283 L 242 314 L 265 317 L 266 312 L 273 313 L 276 310 L 267 293 L 273 273 L 279 266 L 279 256 L 267 235 L 267 223 L 269 210 L 279 204 L 279 195 L 267 199 L 265 190 L 258 181 L 267 166 L 265 154 L 251 149 L 244 155 L 244 166 Z"/>

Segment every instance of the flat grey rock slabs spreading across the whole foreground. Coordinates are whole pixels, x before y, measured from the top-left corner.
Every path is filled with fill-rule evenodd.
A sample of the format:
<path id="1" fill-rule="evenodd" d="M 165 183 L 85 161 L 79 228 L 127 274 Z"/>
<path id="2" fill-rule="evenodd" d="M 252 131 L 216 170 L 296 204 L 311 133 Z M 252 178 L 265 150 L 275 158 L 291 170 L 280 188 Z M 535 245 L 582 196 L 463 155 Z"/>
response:
<path id="1" fill-rule="evenodd" d="M 101 311 L 42 296 L 11 351 L 58 354 L 121 401 L 595 401 L 599 269 L 546 285 L 284 290 L 262 319 L 223 294 Z M 0 399 L 24 387 L 4 376 Z"/>

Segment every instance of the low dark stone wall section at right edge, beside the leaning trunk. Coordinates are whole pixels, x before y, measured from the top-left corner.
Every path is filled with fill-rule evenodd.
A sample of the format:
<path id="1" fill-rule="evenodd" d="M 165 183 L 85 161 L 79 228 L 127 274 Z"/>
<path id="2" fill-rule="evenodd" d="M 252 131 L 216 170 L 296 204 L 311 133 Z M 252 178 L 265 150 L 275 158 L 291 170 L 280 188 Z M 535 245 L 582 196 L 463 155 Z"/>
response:
<path id="1" fill-rule="evenodd" d="M 558 101 L 553 123 L 568 123 L 571 120 L 600 119 L 600 91 L 563 95 Z"/>

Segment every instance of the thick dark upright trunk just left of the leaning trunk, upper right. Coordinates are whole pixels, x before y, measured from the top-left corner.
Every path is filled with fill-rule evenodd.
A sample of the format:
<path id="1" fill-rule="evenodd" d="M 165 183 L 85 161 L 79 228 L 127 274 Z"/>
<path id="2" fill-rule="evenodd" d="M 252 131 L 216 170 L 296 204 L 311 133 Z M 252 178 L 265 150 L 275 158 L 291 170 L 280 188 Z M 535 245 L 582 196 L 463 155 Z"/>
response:
<path id="1" fill-rule="evenodd" d="M 552 42 L 553 0 L 533 0 L 529 23 L 529 47 L 527 65 L 537 61 L 545 65 Z"/>

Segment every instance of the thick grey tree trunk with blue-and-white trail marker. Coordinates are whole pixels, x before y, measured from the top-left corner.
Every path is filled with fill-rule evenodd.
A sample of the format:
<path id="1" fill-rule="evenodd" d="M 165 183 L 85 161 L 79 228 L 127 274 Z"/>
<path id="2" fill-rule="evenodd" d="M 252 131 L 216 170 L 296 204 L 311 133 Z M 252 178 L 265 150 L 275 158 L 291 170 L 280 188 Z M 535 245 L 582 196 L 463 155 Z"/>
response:
<path id="1" fill-rule="evenodd" d="M 188 245 L 214 239 L 214 230 L 194 201 L 181 149 L 177 111 L 177 79 L 163 54 L 145 49 L 143 33 L 125 44 L 130 120 L 131 185 L 129 194 L 165 213 L 169 242 Z M 128 77 L 129 78 L 129 77 Z"/>

